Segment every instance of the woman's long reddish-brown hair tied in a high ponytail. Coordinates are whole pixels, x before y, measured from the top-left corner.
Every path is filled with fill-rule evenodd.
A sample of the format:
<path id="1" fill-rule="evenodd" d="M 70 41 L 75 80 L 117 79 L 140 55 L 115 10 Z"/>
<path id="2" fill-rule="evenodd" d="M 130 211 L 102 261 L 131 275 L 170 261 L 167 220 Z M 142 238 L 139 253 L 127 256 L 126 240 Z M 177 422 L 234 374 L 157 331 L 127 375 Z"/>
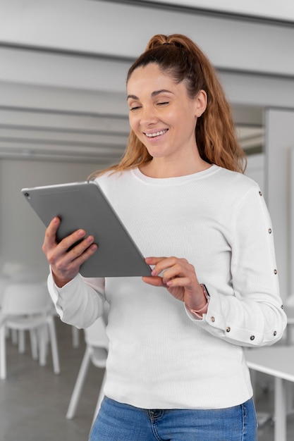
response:
<path id="1" fill-rule="evenodd" d="M 208 163 L 228 170 L 244 173 L 245 153 L 236 136 L 231 108 L 223 87 L 207 56 L 185 35 L 154 35 L 145 52 L 130 66 L 126 82 L 134 70 L 156 63 L 162 73 L 170 75 L 176 83 L 185 81 L 188 95 L 195 98 L 200 90 L 207 93 L 207 108 L 197 118 L 195 137 L 200 156 Z M 146 147 L 130 131 L 128 146 L 121 161 L 104 171 L 123 171 L 152 160 Z"/>

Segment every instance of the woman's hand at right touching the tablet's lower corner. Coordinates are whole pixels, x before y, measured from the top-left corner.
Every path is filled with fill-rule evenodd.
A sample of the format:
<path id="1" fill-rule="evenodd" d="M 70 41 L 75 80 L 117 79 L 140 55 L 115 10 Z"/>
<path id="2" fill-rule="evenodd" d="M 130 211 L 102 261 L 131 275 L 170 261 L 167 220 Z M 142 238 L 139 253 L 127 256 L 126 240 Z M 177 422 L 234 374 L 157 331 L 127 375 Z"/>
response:
<path id="1" fill-rule="evenodd" d="M 194 266 L 186 259 L 176 257 L 147 257 L 148 265 L 154 266 L 151 277 L 142 280 L 149 285 L 166 287 L 178 300 L 185 302 L 189 309 L 199 310 L 207 302 Z M 162 277 L 159 274 L 162 273 Z"/>

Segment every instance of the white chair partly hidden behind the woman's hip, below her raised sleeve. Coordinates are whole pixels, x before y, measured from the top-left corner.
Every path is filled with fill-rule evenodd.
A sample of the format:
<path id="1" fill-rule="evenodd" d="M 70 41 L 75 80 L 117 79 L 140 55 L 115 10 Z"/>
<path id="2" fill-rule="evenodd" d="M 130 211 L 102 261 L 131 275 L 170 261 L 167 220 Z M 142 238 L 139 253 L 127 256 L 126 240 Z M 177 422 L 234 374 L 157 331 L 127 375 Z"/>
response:
<path id="1" fill-rule="evenodd" d="M 73 393 L 71 395 L 71 401 L 68 405 L 68 411 L 66 418 L 72 419 L 75 417 L 75 412 L 78 407 L 78 402 L 80 400 L 80 395 L 82 393 L 82 387 L 85 383 L 85 378 L 87 376 L 87 371 L 90 366 L 90 362 L 97 368 L 105 368 L 106 359 L 108 354 L 109 341 L 105 332 L 105 320 L 103 317 L 98 318 L 89 328 L 84 330 L 85 332 L 85 342 L 86 349 L 85 354 L 82 359 L 82 364 L 80 366 L 80 371 L 78 373 L 77 380 L 75 381 L 75 387 L 73 388 Z M 102 399 L 104 397 L 104 383 L 106 380 L 106 372 L 104 372 L 104 377 L 102 380 L 102 385 L 99 390 L 99 396 L 97 399 L 96 409 L 94 411 L 93 422 L 96 418 Z"/>

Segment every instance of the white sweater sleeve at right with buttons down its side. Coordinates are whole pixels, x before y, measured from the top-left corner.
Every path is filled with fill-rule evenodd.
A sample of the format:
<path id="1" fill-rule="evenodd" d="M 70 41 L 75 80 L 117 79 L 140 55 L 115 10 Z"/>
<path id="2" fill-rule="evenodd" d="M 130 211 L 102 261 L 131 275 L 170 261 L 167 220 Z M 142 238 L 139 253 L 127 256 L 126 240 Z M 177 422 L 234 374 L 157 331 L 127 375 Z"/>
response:
<path id="1" fill-rule="evenodd" d="M 235 207 L 231 237 L 231 292 L 210 286 L 207 314 L 191 320 L 232 344 L 274 344 L 286 328 L 279 294 L 274 233 L 262 192 L 254 187 Z"/>

